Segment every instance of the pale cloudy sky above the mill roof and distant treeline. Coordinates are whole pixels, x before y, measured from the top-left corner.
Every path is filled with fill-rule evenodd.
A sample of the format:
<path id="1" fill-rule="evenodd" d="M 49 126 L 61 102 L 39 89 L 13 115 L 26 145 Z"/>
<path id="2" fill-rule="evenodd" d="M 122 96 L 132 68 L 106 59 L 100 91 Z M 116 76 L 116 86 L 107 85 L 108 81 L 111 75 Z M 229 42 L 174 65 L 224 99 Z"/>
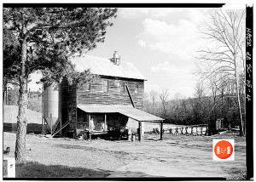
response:
<path id="1" fill-rule="evenodd" d="M 146 77 L 145 92 L 169 90 L 193 97 L 195 93 L 195 51 L 204 46 L 199 28 L 209 9 L 118 9 L 113 26 L 107 28 L 104 43 L 88 52 L 112 58 L 117 51 L 121 61 L 129 61 Z M 31 90 L 39 77 L 32 75 Z"/>

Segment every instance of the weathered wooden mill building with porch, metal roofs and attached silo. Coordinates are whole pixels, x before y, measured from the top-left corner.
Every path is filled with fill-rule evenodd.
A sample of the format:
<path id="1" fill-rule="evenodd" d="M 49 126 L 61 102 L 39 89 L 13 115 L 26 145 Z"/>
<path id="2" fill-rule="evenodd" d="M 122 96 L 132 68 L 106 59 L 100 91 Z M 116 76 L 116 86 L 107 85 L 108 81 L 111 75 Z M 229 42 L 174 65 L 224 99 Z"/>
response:
<path id="1" fill-rule="evenodd" d="M 63 80 L 44 89 L 44 119 L 51 134 L 84 130 L 91 136 L 136 126 L 141 139 L 143 122 L 163 122 L 142 111 L 145 78 L 116 52 L 112 59 L 84 54 L 72 62 L 77 71 L 90 69 L 98 77 L 80 87 Z"/>

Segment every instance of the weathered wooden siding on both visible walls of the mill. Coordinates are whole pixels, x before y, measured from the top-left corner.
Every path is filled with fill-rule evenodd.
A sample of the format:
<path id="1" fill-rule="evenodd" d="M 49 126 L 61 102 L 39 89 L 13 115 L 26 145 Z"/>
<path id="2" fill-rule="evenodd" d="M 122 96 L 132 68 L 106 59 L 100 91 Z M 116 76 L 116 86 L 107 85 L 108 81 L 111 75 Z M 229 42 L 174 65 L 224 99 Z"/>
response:
<path id="1" fill-rule="evenodd" d="M 108 92 L 103 92 L 103 80 L 108 80 Z M 129 94 L 125 87 L 128 85 L 131 97 L 138 109 L 143 108 L 144 81 L 133 80 L 117 77 L 99 77 L 93 82 L 90 82 L 90 91 L 86 91 L 83 86 L 77 88 L 76 85 L 68 86 L 67 80 L 61 82 L 61 118 L 62 123 L 67 121 L 70 125 L 64 129 L 68 132 L 74 132 L 76 128 L 86 128 L 89 122 L 88 113 L 77 109 L 77 105 L 129 105 L 132 106 Z M 137 94 L 135 90 L 137 89 Z M 115 114 L 116 115 L 116 114 Z M 113 114 L 108 114 L 108 126 L 119 126 L 119 117 Z M 100 117 L 102 118 L 103 115 Z M 97 118 L 96 116 L 94 116 Z M 124 117 L 124 116 L 122 116 Z M 96 119 L 96 121 L 99 118 Z M 122 126 L 126 125 L 128 117 L 125 117 Z M 119 124 L 118 124 L 119 123 Z M 119 126 L 120 127 L 120 126 Z"/>

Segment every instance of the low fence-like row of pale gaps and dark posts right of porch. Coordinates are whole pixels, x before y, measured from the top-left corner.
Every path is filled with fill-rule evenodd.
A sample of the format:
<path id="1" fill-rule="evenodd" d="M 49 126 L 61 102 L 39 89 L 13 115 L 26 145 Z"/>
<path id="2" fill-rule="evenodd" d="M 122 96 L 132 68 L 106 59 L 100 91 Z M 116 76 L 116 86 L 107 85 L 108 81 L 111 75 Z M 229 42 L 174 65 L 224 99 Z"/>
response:
<path id="1" fill-rule="evenodd" d="M 207 124 L 198 124 L 177 128 L 168 128 L 170 134 L 183 134 L 183 135 L 193 135 L 201 136 L 208 134 L 208 125 Z"/>

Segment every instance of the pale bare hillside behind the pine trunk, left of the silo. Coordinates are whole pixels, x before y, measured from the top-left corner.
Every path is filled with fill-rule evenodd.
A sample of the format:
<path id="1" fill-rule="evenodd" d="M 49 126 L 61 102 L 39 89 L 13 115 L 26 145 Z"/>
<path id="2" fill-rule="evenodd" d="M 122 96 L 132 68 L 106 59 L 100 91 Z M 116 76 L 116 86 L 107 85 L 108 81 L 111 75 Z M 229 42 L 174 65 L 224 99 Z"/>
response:
<path id="1" fill-rule="evenodd" d="M 3 105 L 3 122 L 17 123 L 18 106 L 17 105 Z M 42 113 L 27 110 L 27 123 L 42 124 Z"/>

